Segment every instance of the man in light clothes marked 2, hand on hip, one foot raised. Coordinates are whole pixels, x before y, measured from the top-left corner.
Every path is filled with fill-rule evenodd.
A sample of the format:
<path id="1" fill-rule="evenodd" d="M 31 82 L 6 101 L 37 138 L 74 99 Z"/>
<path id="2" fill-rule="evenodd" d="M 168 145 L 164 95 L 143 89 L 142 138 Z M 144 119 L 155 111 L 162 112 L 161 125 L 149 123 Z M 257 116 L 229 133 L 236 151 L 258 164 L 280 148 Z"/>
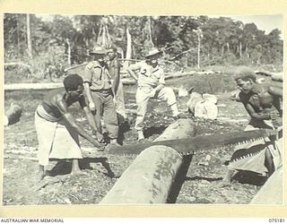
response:
<path id="1" fill-rule="evenodd" d="M 137 105 L 137 116 L 135 129 L 138 134 L 138 141 L 143 140 L 143 119 L 146 114 L 147 103 L 150 98 L 164 99 L 171 108 L 174 117 L 183 117 L 178 112 L 177 99 L 174 91 L 170 87 L 165 87 L 163 69 L 158 64 L 161 51 L 152 48 L 146 60 L 143 62 L 130 65 L 126 71 L 137 81 L 137 91 L 135 95 Z M 138 75 L 135 72 L 138 71 Z"/>

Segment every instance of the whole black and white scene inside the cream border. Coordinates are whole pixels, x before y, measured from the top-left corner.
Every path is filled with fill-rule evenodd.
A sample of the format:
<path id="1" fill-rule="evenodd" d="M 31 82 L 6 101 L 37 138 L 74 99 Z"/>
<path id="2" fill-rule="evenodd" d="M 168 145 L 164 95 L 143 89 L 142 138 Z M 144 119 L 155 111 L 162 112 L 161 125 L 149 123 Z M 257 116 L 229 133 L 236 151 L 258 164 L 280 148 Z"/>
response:
<path id="1" fill-rule="evenodd" d="M 283 205 L 283 14 L 3 19 L 4 207 Z"/>

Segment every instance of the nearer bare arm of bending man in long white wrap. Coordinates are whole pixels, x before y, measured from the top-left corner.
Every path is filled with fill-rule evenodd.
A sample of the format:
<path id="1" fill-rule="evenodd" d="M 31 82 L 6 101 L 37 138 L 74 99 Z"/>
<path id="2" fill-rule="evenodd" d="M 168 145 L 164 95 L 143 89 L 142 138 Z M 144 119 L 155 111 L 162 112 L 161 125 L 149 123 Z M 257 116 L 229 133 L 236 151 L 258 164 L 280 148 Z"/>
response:
<path id="1" fill-rule="evenodd" d="M 74 116 L 70 112 L 68 112 L 68 108 L 64 99 L 62 99 L 61 97 L 57 98 L 56 105 L 62 116 L 64 117 L 65 121 L 68 122 L 69 125 L 71 125 L 78 134 L 80 134 L 83 138 L 91 142 L 96 147 L 100 147 L 99 142 L 93 139 L 90 134 L 85 132 L 81 126 L 76 124 Z"/>

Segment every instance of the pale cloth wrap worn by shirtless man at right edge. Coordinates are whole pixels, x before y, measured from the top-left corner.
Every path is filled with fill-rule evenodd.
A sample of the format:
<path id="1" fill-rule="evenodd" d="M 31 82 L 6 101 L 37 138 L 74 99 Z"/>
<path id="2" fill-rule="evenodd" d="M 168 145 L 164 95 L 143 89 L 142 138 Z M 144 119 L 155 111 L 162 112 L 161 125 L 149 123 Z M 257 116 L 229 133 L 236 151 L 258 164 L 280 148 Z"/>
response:
<path id="1" fill-rule="evenodd" d="M 268 125 L 269 127 L 273 126 L 269 120 L 265 121 L 265 125 Z M 256 129 L 258 129 L 258 127 L 249 124 L 245 131 Z M 235 152 L 230 159 L 230 165 L 228 167 L 230 169 L 253 171 L 259 174 L 268 172 L 265 167 L 266 150 L 269 150 L 272 154 L 275 170 L 280 168 L 283 165 L 283 137 L 274 142 L 271 142 L 266 138 L 259 142 L 248 143 L 245 147 L 239 145 L 235 148 Z"/>

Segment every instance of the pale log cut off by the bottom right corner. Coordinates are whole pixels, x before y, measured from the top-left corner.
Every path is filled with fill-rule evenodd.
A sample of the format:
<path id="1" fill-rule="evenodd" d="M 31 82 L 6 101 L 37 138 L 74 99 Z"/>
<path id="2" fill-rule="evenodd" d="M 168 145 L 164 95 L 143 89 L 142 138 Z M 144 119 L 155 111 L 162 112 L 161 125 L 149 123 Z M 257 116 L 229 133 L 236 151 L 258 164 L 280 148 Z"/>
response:
<path id="1" fill-rule="evenodd" d="M 283 167 L 267 179 L 250 204 L 283 204 Z"/>

